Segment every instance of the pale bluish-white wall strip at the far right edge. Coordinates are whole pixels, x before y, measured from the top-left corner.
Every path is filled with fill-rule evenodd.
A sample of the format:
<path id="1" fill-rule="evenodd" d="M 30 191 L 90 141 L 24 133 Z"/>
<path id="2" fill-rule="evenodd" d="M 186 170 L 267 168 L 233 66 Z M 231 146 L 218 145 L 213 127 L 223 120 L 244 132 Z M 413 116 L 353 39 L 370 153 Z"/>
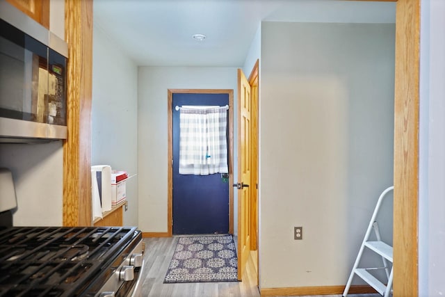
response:
<path id="1" fill-rule="evenodd" d="M 421 1 L 419 296 L 445 294 L 445 2 Z"/>

